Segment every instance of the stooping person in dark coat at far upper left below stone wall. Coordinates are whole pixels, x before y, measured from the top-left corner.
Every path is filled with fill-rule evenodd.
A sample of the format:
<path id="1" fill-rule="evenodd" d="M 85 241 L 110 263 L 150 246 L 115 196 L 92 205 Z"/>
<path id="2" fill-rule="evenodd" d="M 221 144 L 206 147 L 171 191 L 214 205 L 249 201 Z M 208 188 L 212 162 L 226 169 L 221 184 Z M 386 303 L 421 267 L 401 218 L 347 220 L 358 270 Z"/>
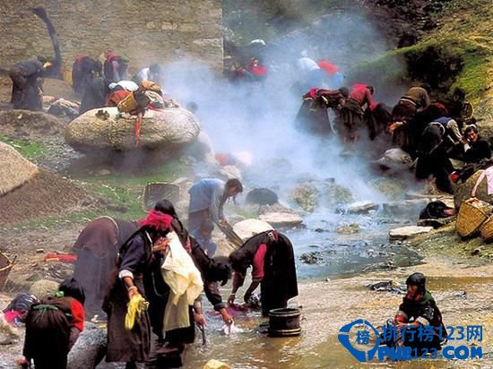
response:
<path id="1" fill-rule="evenodd" d="M 38 59 L 23 60 L 13 64 L 9 71 L 12 80 L 12 98 L 14 109 L 41 110 L 41 78 L 45 68 Z"/>

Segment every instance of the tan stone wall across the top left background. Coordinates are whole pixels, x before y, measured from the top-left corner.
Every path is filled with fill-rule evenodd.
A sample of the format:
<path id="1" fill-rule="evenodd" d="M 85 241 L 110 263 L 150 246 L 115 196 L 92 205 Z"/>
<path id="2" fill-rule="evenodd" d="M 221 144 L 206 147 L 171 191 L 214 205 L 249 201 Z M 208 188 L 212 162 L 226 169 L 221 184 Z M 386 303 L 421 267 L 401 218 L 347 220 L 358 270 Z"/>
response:
<path id="1" fill-rule="evenodd" d="M 99 57 L 105 47 L 130 58 L 130 71 L 152 63 L 203 60 L 222 66 L 221 0 L 3 0 L 0 66 L 53 56 L 48 30 L 30 7 L 53 22 L 65 66 L 76 56 Z"/>

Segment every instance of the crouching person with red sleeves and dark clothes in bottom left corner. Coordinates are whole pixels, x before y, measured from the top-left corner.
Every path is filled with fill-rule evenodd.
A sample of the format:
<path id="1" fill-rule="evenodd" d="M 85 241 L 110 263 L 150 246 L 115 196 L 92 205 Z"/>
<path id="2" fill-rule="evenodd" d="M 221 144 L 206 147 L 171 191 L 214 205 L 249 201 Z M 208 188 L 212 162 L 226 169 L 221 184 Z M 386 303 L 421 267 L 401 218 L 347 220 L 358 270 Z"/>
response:
<path id="1" fill-rule="evenodd" d="M 65 279 L 55 296 L 41 299 L 26 317 L 23 355 L 36 369 L 65 369 L 67 356 L 84 329 L 85 294 L 77 280 Z"/>

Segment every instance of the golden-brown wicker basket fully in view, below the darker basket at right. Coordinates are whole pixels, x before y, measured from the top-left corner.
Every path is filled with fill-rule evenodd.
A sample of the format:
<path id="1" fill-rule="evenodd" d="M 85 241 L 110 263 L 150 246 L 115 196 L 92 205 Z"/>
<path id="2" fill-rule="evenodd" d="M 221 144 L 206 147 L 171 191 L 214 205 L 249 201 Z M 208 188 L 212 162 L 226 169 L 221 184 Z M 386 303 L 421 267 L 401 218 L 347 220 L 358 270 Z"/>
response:
<path id="1" fill-rule="evenodd" d="M 463 202 L 457 215 L 455 230 L 461 237 L 474 236 L 492 211 L 493 207 L 488 202 L 475 198 Z"/>

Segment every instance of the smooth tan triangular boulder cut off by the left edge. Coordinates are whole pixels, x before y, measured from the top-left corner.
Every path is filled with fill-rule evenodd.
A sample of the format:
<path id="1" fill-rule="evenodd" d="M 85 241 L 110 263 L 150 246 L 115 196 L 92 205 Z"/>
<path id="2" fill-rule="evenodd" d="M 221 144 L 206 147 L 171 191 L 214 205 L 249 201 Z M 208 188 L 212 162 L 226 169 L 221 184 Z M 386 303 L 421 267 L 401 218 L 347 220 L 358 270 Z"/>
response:
<path id="1" fill-rule="evenodd" d="M 0 142 L 0 196 L 24 185 L 39 173 L 32 164 L 12 146 Z"/>

